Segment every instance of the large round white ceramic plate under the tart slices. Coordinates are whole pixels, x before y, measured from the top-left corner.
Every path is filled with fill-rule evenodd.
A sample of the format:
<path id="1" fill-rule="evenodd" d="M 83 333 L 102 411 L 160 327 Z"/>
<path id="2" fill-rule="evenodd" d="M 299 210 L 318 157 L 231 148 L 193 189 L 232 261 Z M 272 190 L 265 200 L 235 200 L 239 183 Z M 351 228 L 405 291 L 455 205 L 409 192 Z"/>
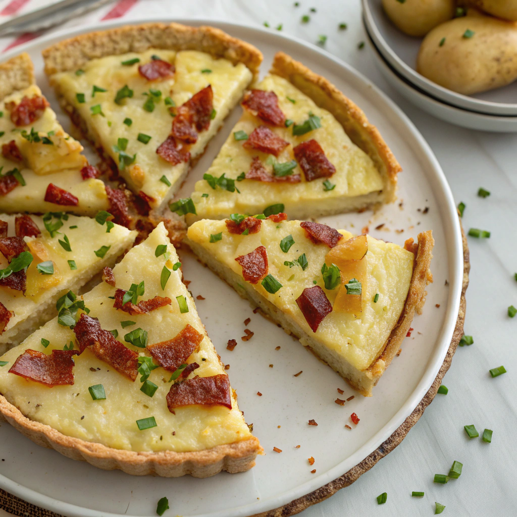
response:
<path id="1" fill-rule="evenodd" d="M 412 412 L 443 362 L 457 319 L 463 261 L 454 201 L 436 158 L 402 111 L 362 75 L 313 45 L 262 28 L 208 20 L 178 21 L 214 25 L 256 45 L 264 53 L 263 73 L 276 51 L 287 52 L 324 74 L 363 108 L 404 168 L 400 174 L 399 201 L 375 215 L 364 212 L 323 221 L 358 233 L 368 225 L 374 236 L 399 244 L 408 237 L 416 237 L 418 231 L 431 228 L 436 239 L 432 266 L 435 283 L 429 287 L 423 315 L 415 317 L 415 330 L 404 341 L 401 356 L 394 359 L 374 389 L 374 396 L 363 398 L 298 341 L 253 314 L 253 307 L 230 287 L 188 253 L 181 252 L 185 277 L 192 280 L 190 289 L 194 296 L 202 294 L 206 298 L 196 302 L 203 323 L 222 360 L 231 366 L 228 373 L 239 394 L 239 406 L 246 420 L 254 423 L 254 433 L 266 455 L 257 458 L 253 469 L 241 474 L 222 473 L 207 479 L 132 477 L 69 460 L 53 450 L 38 447 L 3 424 L 0 458 L 5 461 L 0 461 L 1 488 L 70 517 L 154 515 L 157 501 L 163 496 L 169 498 L 171 506 L 166 515 L 238 517 L 277 508 L 308 494 L 366 458 Z M 22 50 L 31 54 L 37 81 L 57 107 L 42 72 L 41 50 L 67 37 L 117 25 L 122 23 L 53 34 L 17 48 L 5 58 Z M 194 181 L 202 177 L 239 112 L 240 108 L 235 110 L 210 143 L 182 195 L 188 195 Z M 65 116 L 60 119 L 69 126 Z M 429 210 L 422 214 L 425 207 Z M 385 223 L 384 231 L 376 231 L 375 226 L 381 223 Z M 243 322 L 247 317 L 251 317 L 247 328 L 255 335 L 245 343 L 240 337 L 244 335 Z M 233 352 L 226 350 L 229 339 L 238 341 Z M 281 349 L 276 351 L 276 346 Z M 294 377 L 300 370 L 303 373 Z M 337 388 L 345 390 L 341 398 L 355 394 L 355 399 L 344 407 L 335 404 Z M 257 397 L 257 391 L 263 396 Z M 353 412 L 361 421 L 349 431 L 344 426 Z M 309 426 L 309 419 L 315 419 L 318 426 Z M 300 448 L 295 448 L 297 445 Z M 282 453 L 273 452 L 273 447 L 282 449 Z M 314 466 L 307 461 L 311 456 Z M 315 474 L 310 473 L 313 468 Z"/>

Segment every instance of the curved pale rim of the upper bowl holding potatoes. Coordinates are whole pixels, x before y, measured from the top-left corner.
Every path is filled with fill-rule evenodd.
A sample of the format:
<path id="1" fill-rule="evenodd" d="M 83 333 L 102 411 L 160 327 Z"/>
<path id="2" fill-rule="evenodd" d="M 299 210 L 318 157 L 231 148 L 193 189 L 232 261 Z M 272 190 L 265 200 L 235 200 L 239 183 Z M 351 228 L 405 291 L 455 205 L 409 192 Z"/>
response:
<path id="1" fill-rule="evenodd" d="M 427 79 L 414 68 L 407 65 L 388 45 L 381 31 L 379 31 L 372 16 L 370 1 L 371 0 L 361 0 L 364 14 L 364 25 L 368 28 L 370 37 L 375 42 L 379 53 L 381 53 L 387 62 L 407 81 L 424 90 L 426 94 L 433 95 L 434 97 L 439 98 L 440 101 L 447 102 L 449 105 L 452 104 L 454 108 L 461 109 L 463 111 L 473 111 L 484 115 L 500 117 L 517 116 L 517 103 L 480 100 L 474 97 L 469 97 L 468 95 L 453 92 L 449 88 L 440 86 L 439 84 Z M 483 109 L 485 111 L 482 111 Z"/>

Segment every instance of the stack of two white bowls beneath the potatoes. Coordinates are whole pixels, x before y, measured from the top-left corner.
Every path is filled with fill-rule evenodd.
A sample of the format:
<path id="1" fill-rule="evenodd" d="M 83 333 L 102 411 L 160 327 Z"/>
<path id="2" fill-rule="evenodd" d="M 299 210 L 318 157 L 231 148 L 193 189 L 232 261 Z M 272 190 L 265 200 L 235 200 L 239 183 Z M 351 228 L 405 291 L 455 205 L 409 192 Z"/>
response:
<path id="1" fill-rule="evenodd" d="M 422 38 L 399 31 L 384 13 L 381 0 L 361 1 L 364 28 L 379 69 L 407 100 L 451 124 L 517 132 L 517 83 L 472 96 L 433 83 L 415 69 Z"/>

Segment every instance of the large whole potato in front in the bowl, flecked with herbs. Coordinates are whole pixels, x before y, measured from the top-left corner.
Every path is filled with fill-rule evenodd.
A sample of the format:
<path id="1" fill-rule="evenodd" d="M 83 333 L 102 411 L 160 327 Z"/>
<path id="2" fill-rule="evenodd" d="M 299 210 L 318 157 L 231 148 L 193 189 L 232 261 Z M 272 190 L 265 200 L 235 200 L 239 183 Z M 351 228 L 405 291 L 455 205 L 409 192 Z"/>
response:
<path id="1" fill-rule="evenodd" d="M 517 24 L 476 13 L 439 25 L 422 41 L 417 71 L 464 95 L 506 86 L 517 79 Z"/>

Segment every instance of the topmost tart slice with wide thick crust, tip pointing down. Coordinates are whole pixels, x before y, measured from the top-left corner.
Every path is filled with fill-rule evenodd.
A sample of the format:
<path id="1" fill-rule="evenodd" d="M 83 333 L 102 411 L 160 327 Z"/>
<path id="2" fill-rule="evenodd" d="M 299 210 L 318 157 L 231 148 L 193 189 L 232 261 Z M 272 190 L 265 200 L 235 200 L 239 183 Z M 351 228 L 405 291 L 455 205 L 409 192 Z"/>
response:
<path id="1" fill-rule="evenodd" d="M 159 213 L 258 73 L 260 51 L 213 27 L 148 23 L 43 52 L 59 102 Z"/>

